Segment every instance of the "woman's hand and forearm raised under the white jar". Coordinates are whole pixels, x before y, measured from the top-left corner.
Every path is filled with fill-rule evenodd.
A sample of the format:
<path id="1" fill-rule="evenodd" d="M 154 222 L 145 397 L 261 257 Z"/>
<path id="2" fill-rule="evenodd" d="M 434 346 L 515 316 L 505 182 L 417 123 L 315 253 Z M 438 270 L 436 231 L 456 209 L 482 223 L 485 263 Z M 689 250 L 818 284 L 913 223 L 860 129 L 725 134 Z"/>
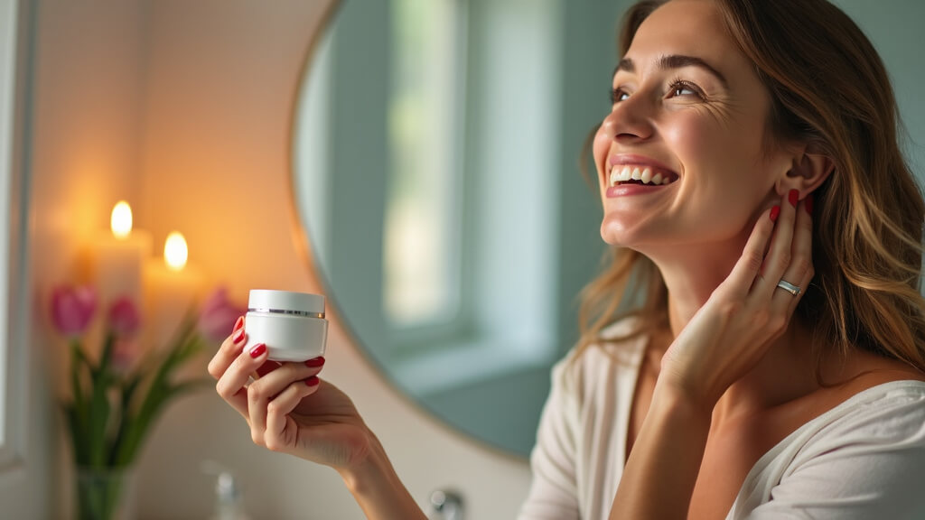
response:
<path id="1" fill-rule="evenodd" d="M 370 520 L 425 520 L 351 400 L 318 378 L 324 358 L 280 364 L 267 361 L 262 344 L 242 352 L 246 343 L 239 318 L 209 374 L 218 379 L 218 395 L 251 427 L 255 444 L 333 467 Z M 257 379 L 248 384 L 252 374 Z"/>

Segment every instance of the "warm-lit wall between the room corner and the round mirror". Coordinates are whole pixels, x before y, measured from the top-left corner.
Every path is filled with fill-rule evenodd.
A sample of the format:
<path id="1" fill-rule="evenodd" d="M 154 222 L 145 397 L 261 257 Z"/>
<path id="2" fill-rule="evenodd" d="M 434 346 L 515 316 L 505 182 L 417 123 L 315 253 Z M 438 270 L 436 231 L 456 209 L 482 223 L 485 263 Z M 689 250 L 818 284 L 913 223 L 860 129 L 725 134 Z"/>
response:
<path id="1" fill-rule="evenodd" d="M 293 236 L 289 147 L 306 49 L 328 5 L 149 5 L 141 225 L 155 243 L 181 228 L 191 262 L 239 299 L 258 287 L 321 291 Z M 525 462 L 419 413 L 332 332 L 323 377 L 351 395 L 414 498 L 452 486 L 469 499 L 469 517 L 512 518 L 529 483 Z M 206 517 L 205 459 L 240 473 L 254 517 L 363 518 L 333 471 L 253 446 L 244 421 L 211 391 L 169 410 L 142 453 L 145 517 Z"/>

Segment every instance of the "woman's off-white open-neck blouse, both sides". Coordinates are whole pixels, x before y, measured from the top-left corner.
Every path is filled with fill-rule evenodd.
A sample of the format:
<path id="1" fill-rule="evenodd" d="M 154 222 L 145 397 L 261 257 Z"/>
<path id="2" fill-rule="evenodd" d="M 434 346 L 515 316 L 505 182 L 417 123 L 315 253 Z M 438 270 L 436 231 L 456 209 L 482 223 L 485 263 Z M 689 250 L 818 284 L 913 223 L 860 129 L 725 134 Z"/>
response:
<path id="1" fill-rule="evenodd" d="M 629 321 L 605 329 L 625 333 Z M 606 519 L 626 460 L 626 435 L 647 338 L 569 353 L 531 454 L 522 520 Z M 925 519 L 925 382 L 861 391 L 799 427 L 756 463 L 727 520 Z"/>

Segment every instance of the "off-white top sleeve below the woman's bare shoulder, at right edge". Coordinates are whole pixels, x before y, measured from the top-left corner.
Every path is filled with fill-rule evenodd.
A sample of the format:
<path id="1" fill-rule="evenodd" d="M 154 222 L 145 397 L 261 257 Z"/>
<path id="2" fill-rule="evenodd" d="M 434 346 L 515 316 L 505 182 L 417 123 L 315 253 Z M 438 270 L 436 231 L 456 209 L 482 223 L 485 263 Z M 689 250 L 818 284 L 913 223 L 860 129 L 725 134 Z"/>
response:
<path id="1" fill-rule="evenodd" d="M 925 518 L 925 396 L 920 384 L 889 393 L 812 432 L 770 488 L 770 501 L 736 518 Z"/>

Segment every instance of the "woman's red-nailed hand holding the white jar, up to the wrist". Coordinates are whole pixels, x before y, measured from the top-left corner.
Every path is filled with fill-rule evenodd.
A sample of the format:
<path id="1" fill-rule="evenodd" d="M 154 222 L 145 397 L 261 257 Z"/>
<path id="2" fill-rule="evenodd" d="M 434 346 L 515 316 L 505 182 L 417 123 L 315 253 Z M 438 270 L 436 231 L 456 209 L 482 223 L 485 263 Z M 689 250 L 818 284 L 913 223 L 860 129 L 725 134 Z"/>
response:
<path id="1" fill-rule="evenodd" d="M 362 463 L 371 435 L 351 400 L 317 377 L 324 358 L 280 364 L 267 361 L 265 345 L 242 352 L 246 342 L 239 318 L 208 370 L 218 395 L 251 427 L 253 442 L 339 471 Z M 252 374 L 259 378 L 248 384 Z"/>

